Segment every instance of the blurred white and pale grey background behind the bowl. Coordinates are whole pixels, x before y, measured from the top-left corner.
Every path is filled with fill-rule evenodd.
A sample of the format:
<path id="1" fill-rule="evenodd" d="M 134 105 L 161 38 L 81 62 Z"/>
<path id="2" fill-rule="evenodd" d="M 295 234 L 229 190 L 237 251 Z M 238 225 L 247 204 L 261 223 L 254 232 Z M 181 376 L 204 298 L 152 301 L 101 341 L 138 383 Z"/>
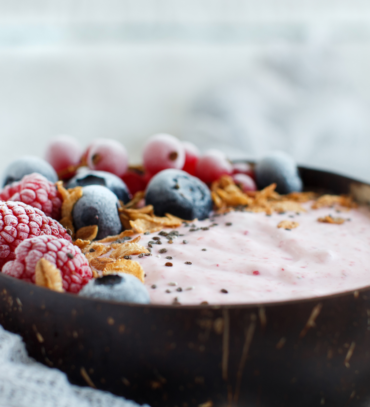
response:
<path id="1" fill-rule="evenodd" d="M 369 22 L 365 0 L 0 1 L 0 172 L 60 133 L 138 163 L 169 132 L 370 180 Z"/>

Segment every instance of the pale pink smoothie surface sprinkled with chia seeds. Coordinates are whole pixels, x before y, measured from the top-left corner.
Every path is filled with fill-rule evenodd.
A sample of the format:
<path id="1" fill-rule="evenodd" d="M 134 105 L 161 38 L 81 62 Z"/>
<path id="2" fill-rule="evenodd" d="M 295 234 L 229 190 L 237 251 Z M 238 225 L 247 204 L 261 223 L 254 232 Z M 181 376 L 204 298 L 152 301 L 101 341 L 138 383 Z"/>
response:
<path id="1" fill-rule="evenodd" d="M 143 266 L 152 303 L 260 303 L 370 285 L 370 210 L 303 206 L 307 212 L 300 215 L 231 212 L 191 223 L 175 229 L 180 236 L 172 244 L 158 233 L 143 235 L 145 247 L 153 237 L 162 243 L 152 244 L 151 256 L 133 256 Z M 329 214 L 346 222 L 317 221 Z M 278 229 L 282 220 L 299 226 Z"/>

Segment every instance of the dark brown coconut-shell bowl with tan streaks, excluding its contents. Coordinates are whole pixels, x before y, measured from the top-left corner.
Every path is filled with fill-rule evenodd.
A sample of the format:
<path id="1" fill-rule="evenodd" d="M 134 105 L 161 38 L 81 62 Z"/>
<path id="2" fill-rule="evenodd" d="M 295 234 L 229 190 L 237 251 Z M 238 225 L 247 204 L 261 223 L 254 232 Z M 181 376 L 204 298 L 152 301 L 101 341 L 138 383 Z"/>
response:
<path id="1" fill-rule="evenodd" d="M 308 189 L 370 188 L 301 168 Z M 364 194 L 362 194 L 364 195 Z M 366 194 L 365 194 L 366 195 Z M 363 406 L 370 288 L 260 305 L 124 305 L 0 275 L 0 323 L 72 383 L 152 407 Z"/>

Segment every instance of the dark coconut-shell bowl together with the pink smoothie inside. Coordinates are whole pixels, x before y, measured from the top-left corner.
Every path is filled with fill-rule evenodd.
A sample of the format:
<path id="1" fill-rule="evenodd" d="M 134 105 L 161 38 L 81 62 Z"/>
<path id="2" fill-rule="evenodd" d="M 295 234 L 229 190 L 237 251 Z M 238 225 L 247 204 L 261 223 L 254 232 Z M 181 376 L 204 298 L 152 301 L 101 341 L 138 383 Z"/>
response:
<path id="1" fill-rule="evenodd" d="M 364 183 L 299 174 L 307 191 L 370 202 Z M 142 235 L 151 256 L 135 261 L 150 304 L 58 293 L 0 273 L 0 322 L 72 383 L 151 406 L 366 405 L 370 217 L 339 199 L 314 214 L 311 200 L 297 203 L 300 215 L 298 206 L 238 208 Z"/>

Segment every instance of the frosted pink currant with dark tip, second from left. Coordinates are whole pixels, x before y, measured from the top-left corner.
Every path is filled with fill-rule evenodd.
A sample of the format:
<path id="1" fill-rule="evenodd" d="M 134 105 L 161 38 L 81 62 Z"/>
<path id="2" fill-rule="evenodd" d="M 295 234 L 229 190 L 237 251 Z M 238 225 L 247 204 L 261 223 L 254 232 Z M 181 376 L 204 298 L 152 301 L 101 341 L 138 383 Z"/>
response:
<path id="1" fill-rule="evenodd" d="M 107 171 L 121 177 L 128 166 L 127 151 L 116 140 L 95 140 L 88 148 L 87 165 L 92 170 Z"/>

